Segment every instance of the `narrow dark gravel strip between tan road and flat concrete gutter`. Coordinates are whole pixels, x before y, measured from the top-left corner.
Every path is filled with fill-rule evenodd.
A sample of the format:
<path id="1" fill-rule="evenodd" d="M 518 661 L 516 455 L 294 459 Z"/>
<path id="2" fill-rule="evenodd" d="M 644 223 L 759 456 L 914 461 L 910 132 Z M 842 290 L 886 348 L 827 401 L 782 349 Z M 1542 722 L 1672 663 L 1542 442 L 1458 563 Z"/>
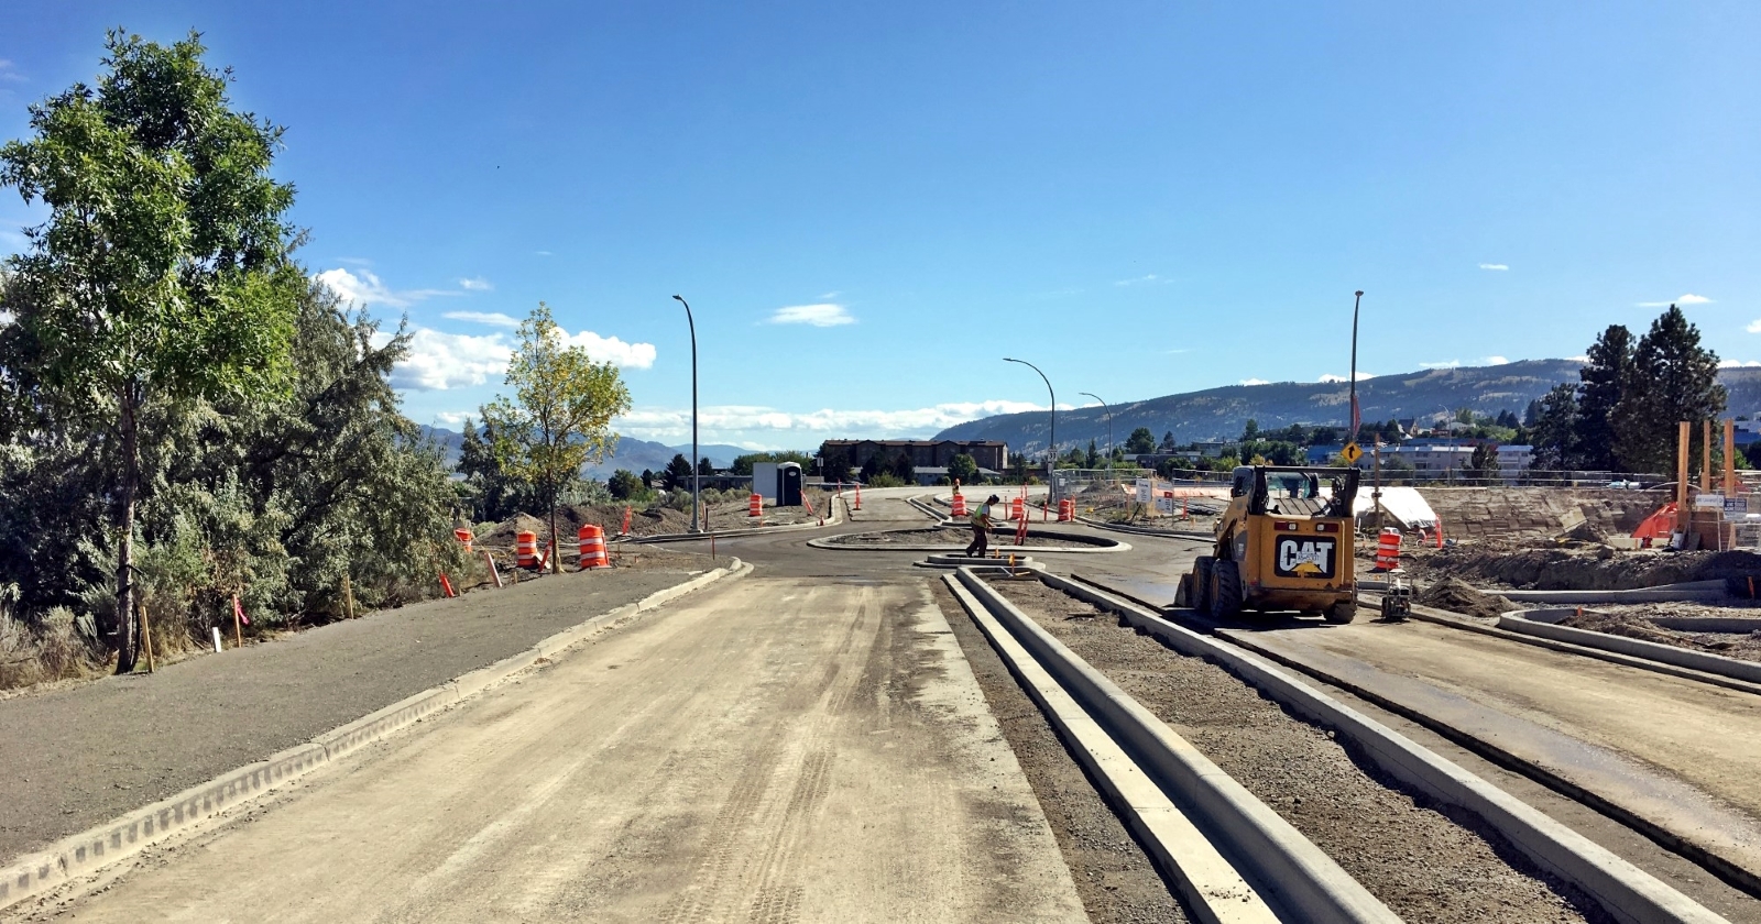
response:
<path id="1" fill-rule="evenodd" d="M 1095 924 L 1159 924 L 1189 920 L 1173 889 L 1157 873 L 1150 855 L 1132 838 L 1118 815 L 1088 780 L 1081 764 L 1065 750 L 1039 706 L 1021 690 L 1014 674 L 972 625 L 972 618 L 940 581 L 932 583 L 954 639 L 965 649 L 972 676 L 984 692 L 991 715 L 1027 774 L 1039 808 L 1051 824 L 1064 862 L 1071 868 L 1076 894 Z"/>

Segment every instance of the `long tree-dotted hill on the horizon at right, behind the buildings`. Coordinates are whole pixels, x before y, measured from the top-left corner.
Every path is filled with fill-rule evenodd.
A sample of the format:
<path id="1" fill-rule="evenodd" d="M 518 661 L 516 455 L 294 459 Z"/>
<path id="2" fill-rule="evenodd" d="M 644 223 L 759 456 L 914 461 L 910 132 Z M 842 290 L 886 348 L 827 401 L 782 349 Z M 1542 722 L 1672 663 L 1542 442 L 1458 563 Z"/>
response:
<path id="1" fill-rule="evenodd" d="M 1560 382 L 1578 382 L 1574 359 L 1527 359 L 1504 366 L 1423 370 L 1379 375 L 1358 382 L 1358 405 L 1365 421 L 1432 417 L 1439 412 L 1474 408 L 1481 414 L 1513 410 Z M 1729 389 L 1729 412 L 1756 415 L 1761 410 L 1761 368 L 1720 370 Z M 1224 385 L 1219 389 L 1148 398 L 1113 407 L 1113 438 L 1120 444 L 1145 426 L 1157 440 L 1173 431 L 1175 440 L 1229 440 L 1242 435 L 1249 419 L 1261 429 L 1289 424 L 1347 426 L 1351 403 L 1345 382 L 1275 382 L 1270 385 Z M 998 414 L 967 421 L 935 435 L 937 440 L 1004 440 L 1016 452 L 1046 447 L 1046 412 Z M 1099 407 L 1058 412 L 1058 449 L 1106 447 L 1106 412 Z"/>

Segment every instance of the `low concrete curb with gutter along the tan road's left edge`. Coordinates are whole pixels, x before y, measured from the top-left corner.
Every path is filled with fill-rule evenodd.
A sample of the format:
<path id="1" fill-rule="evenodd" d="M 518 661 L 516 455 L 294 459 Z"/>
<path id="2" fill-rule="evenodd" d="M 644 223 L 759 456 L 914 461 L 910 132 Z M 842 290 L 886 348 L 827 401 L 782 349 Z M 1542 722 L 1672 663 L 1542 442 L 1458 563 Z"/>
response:
<path id="1" fill-rule="evenodd" d="M 750 572 L 752 565 L 733 558 L 726 568 L 699 574 L 690 581 L 650 593 L 636 604 L 625 604 L 593 616 L 542 639 L 518 655 L 461 674 L 347 725 L 331 729 L 313 737 L 308 744 L 298 744 L 269 755 L 266 760 L 245 764 L 169 799 L 129 811 L 120 818 L 63 838 L 42 850 L 14 857 L 0 864 L 0 910 L 18 905 L 30 896 L 42 894 L 63 882 L 123 861 L 180 831 L 250 803 L 273 787 L 326 767 L 349 752 L 384 739 L 440 709 L 500 685 L 541 660 L 553 658 L 576 642 L 611 628 L 622 620 L 664 605 L 722 577 L 741 577 Z"/>

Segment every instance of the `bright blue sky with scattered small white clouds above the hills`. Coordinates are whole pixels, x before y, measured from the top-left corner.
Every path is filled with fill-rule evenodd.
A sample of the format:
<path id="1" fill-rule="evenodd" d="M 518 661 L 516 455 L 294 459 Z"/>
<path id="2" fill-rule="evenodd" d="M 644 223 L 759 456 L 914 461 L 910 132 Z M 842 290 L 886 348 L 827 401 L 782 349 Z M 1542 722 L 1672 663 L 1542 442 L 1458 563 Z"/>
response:
<path id="1" fill-rule="evenodd" d="M 1761 361 L 1757 4 L 11 0 L 0 137 L 106 26 L 204 32 L 313 275 L 495 394 L 544 299 L 618 429 L 923 436 L 995 410 L 1578 356 L 1680 299 Z M 0 250 L 41 220 L 0 199 Z M 1689 297 L 1692 296 L 1692 297 Z"/>

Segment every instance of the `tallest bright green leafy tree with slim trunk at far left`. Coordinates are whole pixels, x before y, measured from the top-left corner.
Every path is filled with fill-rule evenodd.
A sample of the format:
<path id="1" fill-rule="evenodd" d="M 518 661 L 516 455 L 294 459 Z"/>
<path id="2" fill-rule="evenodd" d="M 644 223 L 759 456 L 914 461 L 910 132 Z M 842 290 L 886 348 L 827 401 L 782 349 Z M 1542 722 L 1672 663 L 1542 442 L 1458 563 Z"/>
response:
<path id="1" fill-rule="evenodd" d="M 30 107 L 33 137 L 0 148 L 0 185 L 48 206 L 9 260 L 7 310 L 30 343 L 25 377 L 86 414 L 114 459 L 116 671 L 134 669 L 141 417 L 157 400 L 285 394 L 296 299 L 269 176 L 282 130 L 229 107 L 227 72 L 195 33 L 173 46 L 111 32 L 97 86 Z"/>

